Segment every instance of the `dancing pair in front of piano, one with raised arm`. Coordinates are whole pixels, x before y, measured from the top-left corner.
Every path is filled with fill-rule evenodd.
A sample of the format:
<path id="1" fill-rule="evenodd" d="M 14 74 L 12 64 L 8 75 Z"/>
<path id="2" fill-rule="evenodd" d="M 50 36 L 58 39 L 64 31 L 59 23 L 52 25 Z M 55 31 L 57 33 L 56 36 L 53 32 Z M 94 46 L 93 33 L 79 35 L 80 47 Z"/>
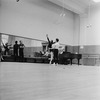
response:
<path id="1" fill-rule="evenodd" d="M 59 39 L 56 38 L 55 42 L 53 40 L 50 40 L 48 35 L 46 35 L 47 40 L 48 40 L 48 49 L 50 51 L 50 64 L 58 64 L 59 60 L 59 49 L 61 45 L 59 44 Z"/>

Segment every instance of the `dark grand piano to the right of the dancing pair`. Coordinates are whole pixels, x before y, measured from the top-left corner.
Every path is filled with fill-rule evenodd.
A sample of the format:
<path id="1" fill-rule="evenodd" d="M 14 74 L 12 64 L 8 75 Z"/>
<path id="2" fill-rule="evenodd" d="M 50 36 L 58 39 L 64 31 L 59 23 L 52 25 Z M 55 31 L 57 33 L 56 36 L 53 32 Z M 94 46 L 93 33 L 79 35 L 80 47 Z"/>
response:
<path id="1" fill-rule="evenodd" d="M 74 54 L 70 52 L 63 52 L 59 54 L 59 63 L 61 64 L 73 64 L 73 59 L 77 59 L 78 65 L 80 64 L 80 59 L 82 58 L 82 54 Z"/>

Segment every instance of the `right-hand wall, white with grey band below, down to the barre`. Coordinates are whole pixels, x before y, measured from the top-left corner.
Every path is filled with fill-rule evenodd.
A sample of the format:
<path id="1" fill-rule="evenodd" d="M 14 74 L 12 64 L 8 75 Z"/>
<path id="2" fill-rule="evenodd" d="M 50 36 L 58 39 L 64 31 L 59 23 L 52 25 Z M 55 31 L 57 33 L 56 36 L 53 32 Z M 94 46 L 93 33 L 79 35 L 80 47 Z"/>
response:
<path id="1" fill-rule="evenodd" d="M 80 45 L 84 46 L 80 52 L 100 54 L 100 3 L 91 5 L 87 13 L 80 17 Z"/>

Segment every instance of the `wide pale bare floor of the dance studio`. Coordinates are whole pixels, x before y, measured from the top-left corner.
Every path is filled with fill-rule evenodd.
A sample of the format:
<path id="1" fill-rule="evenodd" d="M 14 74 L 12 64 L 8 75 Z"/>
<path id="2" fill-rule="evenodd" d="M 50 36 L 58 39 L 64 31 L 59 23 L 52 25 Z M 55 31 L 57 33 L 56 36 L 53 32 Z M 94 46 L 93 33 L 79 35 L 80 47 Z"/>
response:
<path id="1" fill-rule="evenodd" d="M 0 100 L 100 100 L 100 66 L 0 62 Z"/>

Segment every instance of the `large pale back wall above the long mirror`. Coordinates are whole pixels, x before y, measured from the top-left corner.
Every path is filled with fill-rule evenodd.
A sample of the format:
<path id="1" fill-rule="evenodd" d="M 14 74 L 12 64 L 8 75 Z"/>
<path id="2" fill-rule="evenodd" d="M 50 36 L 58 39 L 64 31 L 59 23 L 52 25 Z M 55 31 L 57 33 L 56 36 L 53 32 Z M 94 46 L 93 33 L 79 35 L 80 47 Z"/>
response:
<path id="1" fill-rule="evenodd" d="M 1 0 L 0 32 L 46 40 L 59 38 L 61 43 L 73 45 L 74 13 L 47 0 Z"/>

